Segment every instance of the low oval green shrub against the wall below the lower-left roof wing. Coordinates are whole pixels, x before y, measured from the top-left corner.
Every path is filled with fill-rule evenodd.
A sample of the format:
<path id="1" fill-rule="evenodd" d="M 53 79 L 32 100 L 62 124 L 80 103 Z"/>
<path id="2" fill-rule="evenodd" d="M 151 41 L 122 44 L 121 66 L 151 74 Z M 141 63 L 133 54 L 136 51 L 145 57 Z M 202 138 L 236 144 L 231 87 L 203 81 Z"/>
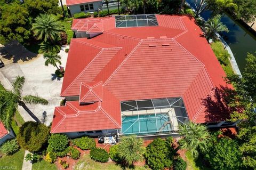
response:
<path id="1" fill-rule="evenodd" d="M 78 148 L 83 149 L 83 150 L 92 149 L 92 148 L 95 148 L 95 146 L 96 146 L 94 139 L 87 137 L 87 136 L 74 139 L 74 140 L 72 140 L 72 142 Z"/>

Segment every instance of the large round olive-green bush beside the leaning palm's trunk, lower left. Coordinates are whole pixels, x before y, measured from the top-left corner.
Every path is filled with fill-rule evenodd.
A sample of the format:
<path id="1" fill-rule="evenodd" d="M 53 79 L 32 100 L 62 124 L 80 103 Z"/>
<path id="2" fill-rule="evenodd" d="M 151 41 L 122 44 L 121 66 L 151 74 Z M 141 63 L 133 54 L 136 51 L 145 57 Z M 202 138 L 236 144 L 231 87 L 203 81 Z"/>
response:
<path id="1" fill-rule="evenodd" d="M 21 148 L 30 152 L 38 151 L 47 142 L 50 128 L 41 123 L 25 122 L 20 127 L 17 141 Z"/>

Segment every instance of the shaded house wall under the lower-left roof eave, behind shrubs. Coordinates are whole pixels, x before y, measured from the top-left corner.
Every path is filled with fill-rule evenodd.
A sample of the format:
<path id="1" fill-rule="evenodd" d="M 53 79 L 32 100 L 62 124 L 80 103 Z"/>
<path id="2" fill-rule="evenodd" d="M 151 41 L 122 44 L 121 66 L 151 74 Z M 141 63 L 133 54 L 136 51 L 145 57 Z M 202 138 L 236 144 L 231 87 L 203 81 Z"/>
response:
<path id="1" fill-rule="evenodd" d="M 91 132 L 91 133 L 88 133 Z M 107 130 L 102 130 L 101 132 L 96 132 L 96 131 L 87 131 L 87 132 L 69 132 L 69 133 L 62 133 L 67 135 L 69 138 L 76 138 L 79 136 L 92 136 L 92 137 L 97 137 L 97 136 L 108 136 L 108 135 L 116 135 L 117 130 L 116 129 L 107 129 Z"/>

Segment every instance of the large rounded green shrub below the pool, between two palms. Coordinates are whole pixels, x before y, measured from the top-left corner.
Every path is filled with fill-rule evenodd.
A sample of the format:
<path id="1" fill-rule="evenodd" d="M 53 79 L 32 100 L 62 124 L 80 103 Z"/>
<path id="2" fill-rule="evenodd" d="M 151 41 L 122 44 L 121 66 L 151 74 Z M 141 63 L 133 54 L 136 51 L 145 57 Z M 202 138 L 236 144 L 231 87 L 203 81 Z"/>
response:
<path id="1" fill-rule="evenodd" d="M 172 166 L 174 150 L 170 146 L 169 140 L 162 140 L 160 138 L 154 139 L 146 148 L 146 163 L 156 170 L 170 168 Z"/>

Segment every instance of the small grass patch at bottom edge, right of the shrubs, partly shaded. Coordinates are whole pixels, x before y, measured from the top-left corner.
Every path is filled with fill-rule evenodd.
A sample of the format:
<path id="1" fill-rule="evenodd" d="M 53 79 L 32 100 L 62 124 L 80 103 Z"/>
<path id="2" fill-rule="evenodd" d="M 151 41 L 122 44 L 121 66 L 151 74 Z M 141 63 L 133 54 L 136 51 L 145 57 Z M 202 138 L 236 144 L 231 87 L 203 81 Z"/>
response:
<path id="1" fill-rule="evenodd" d="M 214 170 L 212 168 L 205 167 L 202 163 L 202 159 L 198 158 L 195 160 L 189 152 L 186 152 L 185 156 L 187 158 L 187 170 Z"/>

